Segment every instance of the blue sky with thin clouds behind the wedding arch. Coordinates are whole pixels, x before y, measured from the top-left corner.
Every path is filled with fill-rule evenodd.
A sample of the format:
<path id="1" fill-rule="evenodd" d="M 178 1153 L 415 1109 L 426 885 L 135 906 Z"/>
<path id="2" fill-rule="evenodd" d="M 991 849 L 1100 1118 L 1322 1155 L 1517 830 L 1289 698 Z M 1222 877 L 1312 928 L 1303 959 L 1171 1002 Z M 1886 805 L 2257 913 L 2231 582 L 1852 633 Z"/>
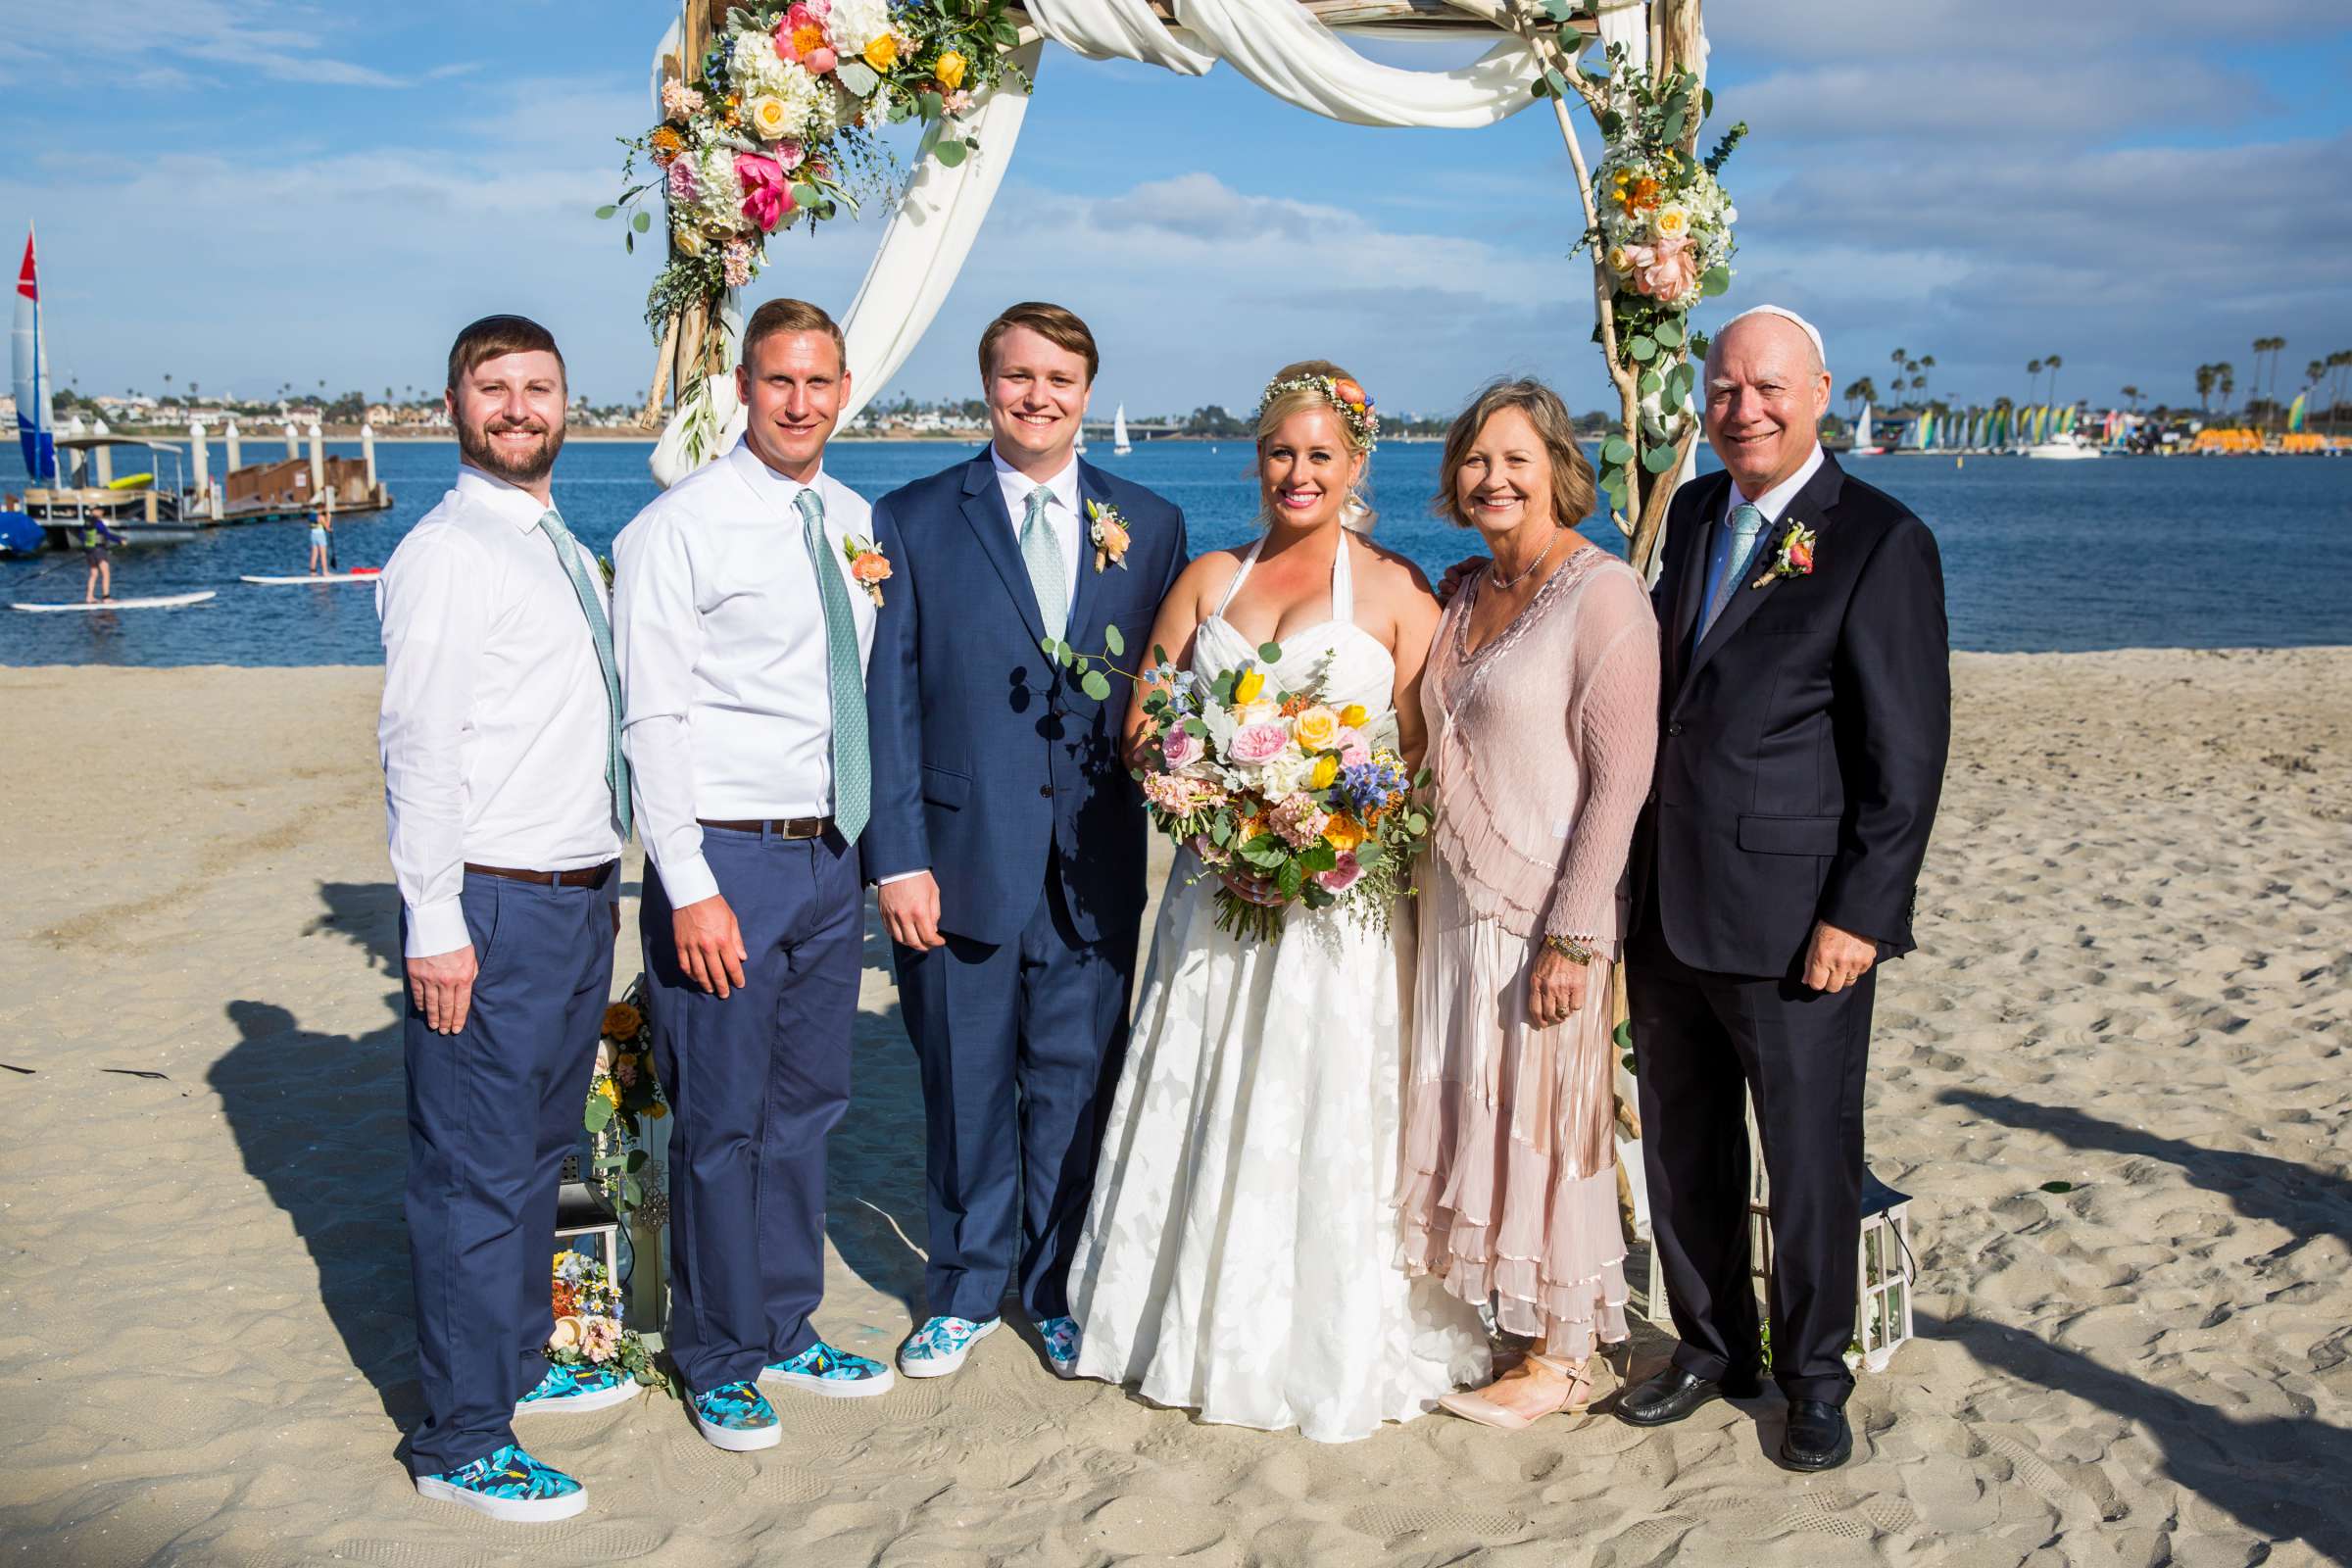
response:
<path id="1" fill-rule="evenodd" d="M 5 242 L 38 221 L 56 374 L 85 393 L 430 386 L 487 310 L 546 320 L 595 400 L 642 393 L 652 263 L 590 209 L 642 129 L 659 0 L 402 7 L 111 0 L 0 28 Z M 2211 31 L 2227 14 L 2227 35 Z M 1717 0 L 1710 85 L 1750 139 L 1724 308 L 1778 301 L 1832 371 L 1933 393 L 2136 383 L 2286 336 L 2352 348 L 2352 12 L 2336 0 Z M 1435 59 L 1421 52 L 1416 59 Z M 1590 143 L 1588 143 L 1590 146 Z M 1228 71 L 1051 52 L 964 280 L 891 395 L 974 390 L 1040 296 L 1089 317 L 1103 397 L 1244 407 L 1284 360 L 1444 411 L 1536 371 L 1602 402 L 1576 193 L 1545 110 L 1482 132 L 1317 120 Z M 753 289 L 844 308 L 880 219 L 790 233 Z M 14 256 L 14 252 L 9 252 Z"/>

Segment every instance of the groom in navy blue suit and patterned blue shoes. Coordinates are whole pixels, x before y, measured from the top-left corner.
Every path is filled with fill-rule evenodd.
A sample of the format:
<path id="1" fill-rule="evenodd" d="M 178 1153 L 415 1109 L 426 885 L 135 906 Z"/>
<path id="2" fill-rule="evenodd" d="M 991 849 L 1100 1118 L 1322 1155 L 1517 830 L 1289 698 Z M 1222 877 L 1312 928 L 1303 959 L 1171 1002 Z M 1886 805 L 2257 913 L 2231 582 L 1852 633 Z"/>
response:
<path id="1" fill-rule="evenodd" d="M 1075 454 L 1096 367 L 1070 310 L 1009 308 L 981 334 L 988 451 L 873 515 L 894 571 L 863 851 L 922 1063 L 931 1218 L 913 1378 L 960 1368 L 1016 1281 L 1054 1371 L 1077 1366 L 1065 1279 L 1127 1051 L 1145 846 L 1131 679 L 1096 701 L 1040 644 L 1101 654 L 1115 625 L 1134 670 L 1185 564 L 1183 512 Z"/>

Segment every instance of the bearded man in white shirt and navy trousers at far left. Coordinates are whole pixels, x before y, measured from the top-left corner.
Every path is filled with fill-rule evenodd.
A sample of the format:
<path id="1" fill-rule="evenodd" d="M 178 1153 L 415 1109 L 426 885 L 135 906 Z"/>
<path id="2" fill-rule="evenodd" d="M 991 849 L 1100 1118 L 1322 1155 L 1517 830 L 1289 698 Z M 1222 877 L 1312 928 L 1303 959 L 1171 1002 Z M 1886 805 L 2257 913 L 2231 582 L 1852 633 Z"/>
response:
<path id="1" fill-rule="evenodd" d="M 555 512 L 564 362 L 494 315 L 449 350 L 456 487 L 376 583 L 383 797 L 409 1006 L 409 1272 L 426 1420 L 416 1490 L 492 1519 L 579 1514 L 510 1420 L 635 1394 L 550 1368 L 562 1157 L 612 987 L 628 839 L 604 581 Z"/>

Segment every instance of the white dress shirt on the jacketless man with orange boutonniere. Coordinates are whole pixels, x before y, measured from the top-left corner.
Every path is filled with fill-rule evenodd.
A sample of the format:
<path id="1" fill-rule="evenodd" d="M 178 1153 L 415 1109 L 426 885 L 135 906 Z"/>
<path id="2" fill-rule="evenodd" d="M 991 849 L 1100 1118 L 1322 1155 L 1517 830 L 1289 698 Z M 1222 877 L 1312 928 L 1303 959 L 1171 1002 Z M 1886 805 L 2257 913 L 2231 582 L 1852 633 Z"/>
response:
<path id="1" fill-rule="evenodd" d="M 840 480 L 818 473 L 802 487 L 736 442 L 612 543 L 621 750 L 637 780 L 637 835 L 673 907 L 720 891 L 694 818 L 833 816 L 826 607 L 802 489 L 826 503 L 826 555 L 849 592 L 863 670 L 875 607 L 849 578 L 842 541 L 873 543 L 873 508 Z"/>

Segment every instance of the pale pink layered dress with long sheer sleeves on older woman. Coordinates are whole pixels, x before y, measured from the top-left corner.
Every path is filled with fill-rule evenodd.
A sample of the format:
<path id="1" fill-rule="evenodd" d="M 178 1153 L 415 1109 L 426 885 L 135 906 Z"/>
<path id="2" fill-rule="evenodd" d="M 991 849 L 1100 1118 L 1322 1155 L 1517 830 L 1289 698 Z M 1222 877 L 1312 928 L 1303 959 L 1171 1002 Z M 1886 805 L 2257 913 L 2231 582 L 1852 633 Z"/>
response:
<path id="1" fill-rule="evenodd" d="M 1470 651 L 1484 585 L 1456 595 L 1421 679 L 1437 830 L 1421 877 L 1402 1262 L 1581 1359 L 1625 1338 L 1609 971 L 1658 750 L 1658 623 L 1630 567 L 1578 550 Z M 1538 1030 L 1526 976 L 1550 933 L 1604 957 L 1585 1004 Z"/>

